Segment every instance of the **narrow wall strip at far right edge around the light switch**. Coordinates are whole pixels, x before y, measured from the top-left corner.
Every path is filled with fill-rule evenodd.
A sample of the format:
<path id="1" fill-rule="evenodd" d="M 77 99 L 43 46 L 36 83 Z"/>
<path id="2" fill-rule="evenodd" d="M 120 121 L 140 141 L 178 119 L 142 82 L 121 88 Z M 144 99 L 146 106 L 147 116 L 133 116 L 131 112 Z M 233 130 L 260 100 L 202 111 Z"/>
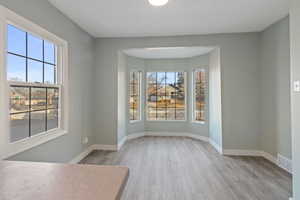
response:
<path id="1" fill-rule="evenodd" d="M 300 80 L 300 1 L 291 1 L 291 78 Z M 293 141 L 293 191 L 294 200 L 300 200 L 300 93 L 292 92 L 292 141 Z"/>

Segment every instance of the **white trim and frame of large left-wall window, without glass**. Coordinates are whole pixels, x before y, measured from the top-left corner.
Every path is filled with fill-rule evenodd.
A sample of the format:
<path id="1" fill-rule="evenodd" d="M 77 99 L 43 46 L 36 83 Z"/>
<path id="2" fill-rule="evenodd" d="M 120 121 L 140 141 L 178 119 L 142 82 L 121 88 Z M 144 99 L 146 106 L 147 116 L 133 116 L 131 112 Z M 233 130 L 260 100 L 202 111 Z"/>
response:
<path id="1" fill-rule="evenodd" d="M 38 35 L 44 40 L 48 40 L 57 45 L 57 66 L 58 68 L 57 81 L 60 87 L 60 106 L 61 112 L 59 118 L 59 128 L 49 130 L 47 132 L 26 138 L 14 143 L 10 142 L 10 128 L 9 128 L 9 85 L 13 82 L 7 81 L 6 78 L 6 44 L 7 44 L 7 24 L 12 24 L 20 27 L 28 33 Z M 68 133 L 69 124 L 69 68 L 68 68 L 68 43 L 48 32 L 44 28 L 34 24 L 33 22 L 19 16 L 9 9 L 0 6 L 0 127 L 3 134 L 0 135 L 0 160 L 11 157 L 15 154 L 21 153 L 35 146 L 54 140 L 60 136 Z M 60 76 L 61 75 L 61 76 Z M 17 83 L 20 85 L 21 83 Z M 26 83 L 26 85 L 29 85 Z M 38 84 L 33 84 L 38 85 Z M 46 85 L 43 84 L 43 87 Z M 51 85 L 49 85 L 51 86 Z M 54 86 L 54 85 L 52 85 Z M 57 85 L 55 85 L 57 86 Z"/>

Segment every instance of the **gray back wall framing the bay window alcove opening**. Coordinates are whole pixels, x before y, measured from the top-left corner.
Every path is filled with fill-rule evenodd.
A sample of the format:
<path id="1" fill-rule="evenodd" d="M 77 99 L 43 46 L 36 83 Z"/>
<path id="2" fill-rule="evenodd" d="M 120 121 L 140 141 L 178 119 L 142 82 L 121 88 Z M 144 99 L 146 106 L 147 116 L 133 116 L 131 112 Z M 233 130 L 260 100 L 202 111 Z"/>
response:
<path id="1" fill-rule="evenodd" d="M 219 46 L 222 66 L 223 146 L 259 148 L 259 33 L 96 40 L 95 134 L 99 144 L 117 141 L 118 51 L 129 48 Z M 109 87 L 108 87 L 109 86 Z"/>

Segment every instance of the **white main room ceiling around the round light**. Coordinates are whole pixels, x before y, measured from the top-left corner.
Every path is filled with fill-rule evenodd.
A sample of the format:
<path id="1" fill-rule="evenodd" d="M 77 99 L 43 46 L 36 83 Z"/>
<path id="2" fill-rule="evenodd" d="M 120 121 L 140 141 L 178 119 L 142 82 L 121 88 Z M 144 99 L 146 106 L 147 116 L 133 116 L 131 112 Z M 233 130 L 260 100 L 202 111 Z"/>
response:
<path id="1" fill-rule="evenodd" d="M 288 15 L 289 0 L 49 0 L 95 37 L 261 31 Z"/>

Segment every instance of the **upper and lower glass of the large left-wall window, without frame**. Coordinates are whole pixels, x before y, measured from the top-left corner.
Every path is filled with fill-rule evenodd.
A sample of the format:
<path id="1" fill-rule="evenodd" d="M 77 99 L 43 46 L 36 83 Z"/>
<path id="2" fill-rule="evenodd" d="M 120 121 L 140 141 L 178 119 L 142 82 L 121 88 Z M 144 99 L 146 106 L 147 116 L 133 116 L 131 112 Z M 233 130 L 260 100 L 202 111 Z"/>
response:
<path id="1" fill-rule="evenodd" d="M 10 86 L 11 142 L 58 128 L 56 46 L 8 25 L 6 53 L 7 80 L 14 81 Z"/>

